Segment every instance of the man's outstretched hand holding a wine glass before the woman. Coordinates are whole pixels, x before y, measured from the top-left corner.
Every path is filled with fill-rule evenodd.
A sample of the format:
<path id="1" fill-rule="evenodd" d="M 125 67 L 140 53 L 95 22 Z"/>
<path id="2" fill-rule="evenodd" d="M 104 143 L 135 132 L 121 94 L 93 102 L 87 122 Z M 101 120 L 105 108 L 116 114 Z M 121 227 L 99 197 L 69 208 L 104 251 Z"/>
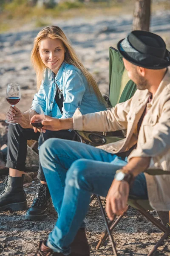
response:
<path id="1" fill-rule="evenodd" d="M 31 122 L 32 121 L 36 121 L 36 120 L 42 120 L 42 132 L 45 132 L 45 130 L 50 130 L 50 131 L 59 131 L 61 130 L 61 122 L 60 119 L 57 118 L 53 118 L 51 116 L 45 116 L 44 119 L 44 115 L 34 115 L 31 118 Z M 34 132 L 40 131 L 40 129 L 37 129 L 36 127 L 33 126 Z"/>

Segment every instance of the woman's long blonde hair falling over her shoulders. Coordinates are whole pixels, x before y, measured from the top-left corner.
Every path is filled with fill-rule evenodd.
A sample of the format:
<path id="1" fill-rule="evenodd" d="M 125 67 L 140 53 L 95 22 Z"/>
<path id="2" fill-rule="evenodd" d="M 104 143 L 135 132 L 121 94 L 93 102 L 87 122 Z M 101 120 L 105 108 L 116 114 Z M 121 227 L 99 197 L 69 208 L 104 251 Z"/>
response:
<path id="1" fill-rule="evenodd" d="M 43 64 L 40 58 L 39 53 L 40 41 L 45 38 L 60 39 L 62 41 L 66 50 L 64 61 L 68 64 L 74 65 L 79 70 L 81 70 L 83 75 L 87 79 L 88 84 L 93 88 L 94 92 L 96 93 L 99 101 L 105 102 L 94 77 L 91 75 L 91 73 L 88 72 L 88 70 L 85 69 L 81 61 L 79 61 L 79 58 L 74 51 L 74 48 L 71 46 L 71 43 L 66 38 L 64 32 L 58 26 L 45 27 L 38 33 L 37 37 L 34 39 L 34 47 L 31 52 L 31 63 L 33 64 L 34 70 L 37 75 L 37 89 L 40 88 L 40 84 L 42 82 L 44 71 L 46 68 L 45 64 Z"/>

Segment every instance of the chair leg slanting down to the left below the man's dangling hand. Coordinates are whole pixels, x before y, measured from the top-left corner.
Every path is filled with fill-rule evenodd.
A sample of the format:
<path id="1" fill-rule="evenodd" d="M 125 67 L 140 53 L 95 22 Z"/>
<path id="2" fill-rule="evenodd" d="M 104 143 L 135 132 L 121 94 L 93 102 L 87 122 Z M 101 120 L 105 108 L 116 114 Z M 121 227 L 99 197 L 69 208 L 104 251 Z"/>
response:
<path id="1" fill-rule="evenodd" d="M 117 224 L 119 223 L 119 221 L 121 221 L 121 219 L 125 216 L 126 212 L 128 211 L 128 209 L 130 208 L 130 205 L 127 205 L 127 208 L 125 210 L 125 212 L 123 212 L 122 215 L 120 215 L 116 221 L 115 218 L 116 218 L 116 215 L 114 215 L 113 217 L 113 221 L 110 221 L 109 222 L 109 226 L 110 226 L 110 230 L 111 232 L 113 231 L 113 229 L 117 226 Z M 105 229 L 105 232 L 103 233 L 102 237 L 100 238 L 99 240 L 99 243 L 97 244 L 96 246 L 96 250 L 98 250 L 100 248 L 100 246 L 105 242 L 105 240 L 107 239 L 108 237 L 108 232 L 107 232 L 107 229 Z"/>

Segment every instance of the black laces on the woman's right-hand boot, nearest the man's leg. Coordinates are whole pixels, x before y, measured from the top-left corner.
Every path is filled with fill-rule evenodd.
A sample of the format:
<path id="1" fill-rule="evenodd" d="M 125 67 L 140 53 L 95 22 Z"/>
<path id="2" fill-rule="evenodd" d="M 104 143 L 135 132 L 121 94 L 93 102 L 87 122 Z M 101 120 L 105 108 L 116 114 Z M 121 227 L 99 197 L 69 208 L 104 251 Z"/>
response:
<path id="1" fill-rule="evenodd" d="M 43 200 L 45 199 L 45 202 L 47 204 L 46 200 L 46 187 L 42 184 L 37 184 L 34 186 L 33 191 L 35 192 L 34 200 L 33 200 L 33 205 L 37 204 L 37 207 L 41 207 Z"/>

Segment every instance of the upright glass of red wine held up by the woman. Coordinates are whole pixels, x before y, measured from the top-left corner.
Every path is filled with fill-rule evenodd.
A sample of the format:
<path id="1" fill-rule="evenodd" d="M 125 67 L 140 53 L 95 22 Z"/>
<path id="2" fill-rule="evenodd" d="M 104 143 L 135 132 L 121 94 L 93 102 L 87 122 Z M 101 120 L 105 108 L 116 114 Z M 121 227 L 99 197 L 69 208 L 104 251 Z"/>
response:
<path id="1" fill-rule="evenodd" d="M 10 83 L 8 84 L 7 90 L 6 90 L 6 100 L 9 104 L 14 107 L 21 98 L 21 91 L 20 91 L 20 85 L 16 83 Z M 10 120 L 6 119 L 7 124 L 11 125 L 17 125 L 17 123 L 11 123 Z"/>

